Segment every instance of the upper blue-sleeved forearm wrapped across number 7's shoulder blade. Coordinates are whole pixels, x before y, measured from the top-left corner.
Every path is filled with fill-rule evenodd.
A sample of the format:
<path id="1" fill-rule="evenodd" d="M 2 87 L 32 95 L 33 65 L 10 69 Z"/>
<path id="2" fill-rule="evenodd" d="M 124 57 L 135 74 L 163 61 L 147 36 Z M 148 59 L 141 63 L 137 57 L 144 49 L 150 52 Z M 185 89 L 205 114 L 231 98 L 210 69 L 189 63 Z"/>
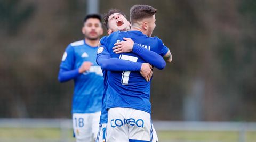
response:
<path id="1" fill-rule="evenodd" d="M 148 49 L 141 47 L 139 44 L 133 45 L 132 52 L 139 55 L 147 63 L 155 66 L 159 70 L 164 69 L 166 65 L 162 56 L 160 56 L 156 52 L 149 51 Z"/>

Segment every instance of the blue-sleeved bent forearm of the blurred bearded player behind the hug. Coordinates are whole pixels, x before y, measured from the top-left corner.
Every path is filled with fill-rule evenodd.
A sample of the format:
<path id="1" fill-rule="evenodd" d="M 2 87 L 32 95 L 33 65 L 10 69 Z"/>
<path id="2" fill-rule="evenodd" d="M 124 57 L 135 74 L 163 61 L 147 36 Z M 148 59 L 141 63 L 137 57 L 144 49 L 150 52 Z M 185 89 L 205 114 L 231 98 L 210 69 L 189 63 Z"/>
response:
<path id="1" fill-rule="evenodd" d="M 69 81 L 70 79 L 73 79 L 73 78 L 77 77 L 80 74 L 78 70 L 79 69 L 66 71 L 66 70 L 60 69 L 58 80 L 60 82 Z"/>

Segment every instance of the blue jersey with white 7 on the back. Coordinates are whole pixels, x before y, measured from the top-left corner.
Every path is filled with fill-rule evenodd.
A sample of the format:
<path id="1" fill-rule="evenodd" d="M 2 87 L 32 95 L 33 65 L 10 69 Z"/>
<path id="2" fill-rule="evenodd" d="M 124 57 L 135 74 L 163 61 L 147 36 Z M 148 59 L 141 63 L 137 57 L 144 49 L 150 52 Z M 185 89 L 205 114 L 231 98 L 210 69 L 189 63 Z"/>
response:
<path id="1" fill-rule="evenodd" d="M 163 45 L 162 40 L 157 37 L 148 37 L 140 31 L 117 31 L 110 34 L 105 40 L 101 40 L 103 45 L 98 56 L 108 52 L 111 57 L 129 60 L 132 62 L 145 63 L 140 56 L 132 52 L 115 54 L 114 44 L 131 38 L 134 43 L 158 53 L 163 56 L 168 52 L 168 48 Z M 105 103 L 106 108 L 126 107 L 151 113 L 150 104 L 150 82 L 147 82 L 138 71 L 108 71 Z"/>

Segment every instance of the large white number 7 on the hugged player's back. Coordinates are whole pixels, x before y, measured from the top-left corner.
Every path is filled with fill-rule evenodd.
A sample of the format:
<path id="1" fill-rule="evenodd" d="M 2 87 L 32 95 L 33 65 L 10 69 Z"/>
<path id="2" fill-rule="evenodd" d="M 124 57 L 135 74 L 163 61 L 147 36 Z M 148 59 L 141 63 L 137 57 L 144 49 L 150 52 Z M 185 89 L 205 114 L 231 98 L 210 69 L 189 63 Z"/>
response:
<path id="1" fill-rule="evenodd" d="M 123 59 L 123 60 L 129 60 L 132 62 L 137 62 L 137 60 L 138 60 L 138 57 L 133 57 L 133 56 L 129 56 L 129 55 L 120 55 L 119 58 Z M 122 85 L 128 85 L 130 73 L 131 73 L 131 71 L 123 71 L 122 80 L 121 80 Z"/>

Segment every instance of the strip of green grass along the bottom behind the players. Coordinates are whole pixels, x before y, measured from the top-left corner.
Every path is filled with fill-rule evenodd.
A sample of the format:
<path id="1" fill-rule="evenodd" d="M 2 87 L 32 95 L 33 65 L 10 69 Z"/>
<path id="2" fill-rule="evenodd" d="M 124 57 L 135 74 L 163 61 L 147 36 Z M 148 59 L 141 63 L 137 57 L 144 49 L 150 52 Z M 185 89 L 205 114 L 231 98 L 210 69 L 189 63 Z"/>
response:
<path id="1" fill-rule="evenodd" d="M 238 132 L 157 131 L 159 142 L 239 142 Z M 75 141 L 72 130 L 64 136 L 54 128 L 0 128 L 0 141 Z M 255 142 L 256 132 L 246 132 L 244 142 Z"/>

